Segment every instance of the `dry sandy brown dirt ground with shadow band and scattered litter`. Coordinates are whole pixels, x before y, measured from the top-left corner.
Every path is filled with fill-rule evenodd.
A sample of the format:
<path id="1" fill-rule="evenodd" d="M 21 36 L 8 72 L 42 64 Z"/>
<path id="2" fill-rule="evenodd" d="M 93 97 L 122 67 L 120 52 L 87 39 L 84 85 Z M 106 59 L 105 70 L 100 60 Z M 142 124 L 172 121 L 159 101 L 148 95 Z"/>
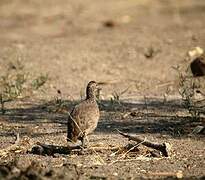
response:
<path id="1" fill-rule="evenodd" d="M 205 120 L 192 121 L 173 69 L 188 67 L 192 48 L 205 48 L 204 0 L 1 0 L 0 19 L 0 75 L 18 61 L 30 76 L 49 77 L 31 97 L 6 103 L 0 116 L 1 178 L 205 177 L 204 135 L 190 134 Z M 90 80 L 107 85 L 87 149 L 32 153 L 38 142 L 66 146 L 66 111 Z M 119 99 L 111 101 L 116 93 Z M 124 147 L 134 142 L 116 129 L 170 143 L 170 156 L 154 157 L 142 145 L 128 152 Z"/>

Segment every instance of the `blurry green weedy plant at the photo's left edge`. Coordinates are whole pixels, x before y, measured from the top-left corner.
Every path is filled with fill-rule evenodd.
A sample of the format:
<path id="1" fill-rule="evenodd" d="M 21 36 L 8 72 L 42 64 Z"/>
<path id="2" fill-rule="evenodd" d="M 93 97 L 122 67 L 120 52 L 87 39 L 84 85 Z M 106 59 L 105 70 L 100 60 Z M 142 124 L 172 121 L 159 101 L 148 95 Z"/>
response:
<path id="1" fill-rule="evenodd" d="M 43 86 L 48 75 L 40 75 L 32 81 L 32 84 L 28 82 L 29 73 L 24 71 L 24 66 L 17 61 L 15 63 L 9 63 L 8 68 L 4 75 L 0 77 L 0 104 L 1 113 L 6 112 L 5 103 L 14 101 L 18 98 L 24 97 L 24 92 L 31 90 L 37 90 Z"/>

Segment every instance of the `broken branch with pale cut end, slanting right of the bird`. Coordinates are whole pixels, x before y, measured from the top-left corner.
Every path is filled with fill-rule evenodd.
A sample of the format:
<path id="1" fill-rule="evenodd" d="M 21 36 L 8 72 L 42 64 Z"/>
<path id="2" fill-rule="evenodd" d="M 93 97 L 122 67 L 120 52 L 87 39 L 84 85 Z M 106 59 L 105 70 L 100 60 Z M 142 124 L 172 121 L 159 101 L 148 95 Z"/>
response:
<path id="1" fill-rule="evenodd" d="M 156 149 L 156 150 L 160 151 L 162 153 L 162 155 L 165 157 L 169 156 L 170 144 L 168 144 L 168 143 L 159 144 L 156 142 L 150 142 L 150 141 L 148 141 L 146 139 L 142 139 L 136 135 L 129 135 L 127 133 L 123 133 L 123 132 L 119 131 L 118 129 L 117 129 L 117 131 L 119 132 L 120 135 L 128 138 L 129 140 L 136 141 L 137 143 L 141 143 L 144 146 Z"/>

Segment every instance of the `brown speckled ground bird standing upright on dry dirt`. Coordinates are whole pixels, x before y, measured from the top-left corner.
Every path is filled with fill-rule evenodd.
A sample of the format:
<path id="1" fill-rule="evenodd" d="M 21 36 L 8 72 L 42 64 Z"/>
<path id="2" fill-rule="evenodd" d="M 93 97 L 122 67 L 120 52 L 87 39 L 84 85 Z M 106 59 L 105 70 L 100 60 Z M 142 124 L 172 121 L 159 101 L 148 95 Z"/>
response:
<path id="1" fill-rule="evenodd" d="M 81 141 L 85 146 L 85 137 L 92 133 L 98 124 L 100 110 L 96 102 L 96 92 L 99 90 L 98 83 L 90 81 L 86 88 L 86 98 L 77 104 L 68 116 L 67 141 L 76 143 Z"/>

